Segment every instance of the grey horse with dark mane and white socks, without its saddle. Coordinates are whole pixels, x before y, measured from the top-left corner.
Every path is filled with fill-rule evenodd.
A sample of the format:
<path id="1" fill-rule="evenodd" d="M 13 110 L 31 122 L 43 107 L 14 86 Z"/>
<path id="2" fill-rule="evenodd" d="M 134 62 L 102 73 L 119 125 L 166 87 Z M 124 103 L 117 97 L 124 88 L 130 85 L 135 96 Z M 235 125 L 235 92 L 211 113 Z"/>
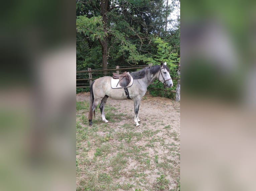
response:
<path id="1" fill-rule="evenodd" d="M 115 100 L 124 100 L 127 98 L 133 99 L 134 102 L 134 123 L 136 126 L 139 126 L 139 105 L 141 98 L 146 94 L 147 87 L 153 83 L 155 79 L 158 79 L 164 84 L 164 87 L 167 85 L 168 88 L 173 86 L 172 79 L 169 74 L 170 70 L 166 66 L 166 62 L 161 62 L 160 65 L 145 67 L 144 69 L 131 72 L 130 75 L 133 78 L 132 86 L 126 88 L 111 88 L 111 78 L 110 76 L 104 76 L 94 80 L 90 86 L 90 104 L 89 104 L 89 125 L 92 125 L 92 117 L 94 112 L 95 117 L 95 108 L 100 103 L 100 111 L 102 120 L 106 123 L 108 120 L 105 118 L 104 107 L 108 97 L 111 97 Z M 125 92 L 127 90 L 127 92 Z M 124 95 L 126 93 L 126 96 Z"/>

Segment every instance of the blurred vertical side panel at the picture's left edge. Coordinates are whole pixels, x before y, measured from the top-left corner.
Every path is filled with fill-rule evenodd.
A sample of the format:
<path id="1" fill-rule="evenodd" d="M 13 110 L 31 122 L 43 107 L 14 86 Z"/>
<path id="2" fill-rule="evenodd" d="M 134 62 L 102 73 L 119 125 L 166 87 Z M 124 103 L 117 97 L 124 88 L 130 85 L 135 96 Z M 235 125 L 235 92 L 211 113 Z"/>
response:
<path id="1" fill-rule="evenodd" d="M 0 7 L 0 190 L 75 190 L 75 2 Z"/>

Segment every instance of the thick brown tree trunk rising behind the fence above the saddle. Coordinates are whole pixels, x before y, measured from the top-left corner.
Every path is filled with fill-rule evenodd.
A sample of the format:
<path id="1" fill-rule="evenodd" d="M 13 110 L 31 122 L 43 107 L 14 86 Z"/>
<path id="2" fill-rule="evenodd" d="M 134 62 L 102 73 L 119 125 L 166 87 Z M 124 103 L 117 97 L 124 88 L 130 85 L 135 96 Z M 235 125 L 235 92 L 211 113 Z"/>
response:
<path id="1" fill-rule="evenodd" d="M 107 8 L 108 8 L 108 0 L 101 0 L 101 14 L 103 17 L 103 28 L 104 28 L 104 33 L 105 33 L 105 37 L 104 40 L 101 41 L 99 39 L 99 42 L 101 44 L 101 48 L 102 48 L 102 69 L 107 69 L 108 66 L 108 59 L 107 59 L 107 50 L 108 50 L 108 45 L 107 45 Z M 107 71 L 103 72 L 104 76 L 107 76 Z"/>

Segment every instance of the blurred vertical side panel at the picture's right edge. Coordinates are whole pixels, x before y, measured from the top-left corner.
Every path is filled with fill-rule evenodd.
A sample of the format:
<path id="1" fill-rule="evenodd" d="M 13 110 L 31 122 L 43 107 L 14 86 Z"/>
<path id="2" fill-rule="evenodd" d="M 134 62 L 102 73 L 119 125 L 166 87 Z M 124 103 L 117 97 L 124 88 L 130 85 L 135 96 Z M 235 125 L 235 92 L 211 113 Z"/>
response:
<path id="1" fill-rule="evenodd" d="M 181 2 L 181 190 L 254 190 L 255 1 Z"/>

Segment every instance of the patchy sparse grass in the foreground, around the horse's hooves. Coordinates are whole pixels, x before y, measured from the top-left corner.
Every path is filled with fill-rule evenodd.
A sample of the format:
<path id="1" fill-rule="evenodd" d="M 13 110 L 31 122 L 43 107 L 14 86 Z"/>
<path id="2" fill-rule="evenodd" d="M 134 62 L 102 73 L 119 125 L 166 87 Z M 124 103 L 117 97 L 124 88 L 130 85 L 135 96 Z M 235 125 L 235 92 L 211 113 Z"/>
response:
<path id="1" fill-rule="evenodd" d="M 145 98 L 146 99 L 146 98 Z M 77 191 L 179 190 L 179 133 L 163 121 L 143 121 L 105 105 L 88 124 L 88 102 L 77 102 Z M 124 121 L 125 123 L 119 122 Z M 154 125 L 156 128 L 148 128 Z M 157 125 L 162 125 L 157 128 Z M 156 177 L 152 181 L 150 177 Z"/>

